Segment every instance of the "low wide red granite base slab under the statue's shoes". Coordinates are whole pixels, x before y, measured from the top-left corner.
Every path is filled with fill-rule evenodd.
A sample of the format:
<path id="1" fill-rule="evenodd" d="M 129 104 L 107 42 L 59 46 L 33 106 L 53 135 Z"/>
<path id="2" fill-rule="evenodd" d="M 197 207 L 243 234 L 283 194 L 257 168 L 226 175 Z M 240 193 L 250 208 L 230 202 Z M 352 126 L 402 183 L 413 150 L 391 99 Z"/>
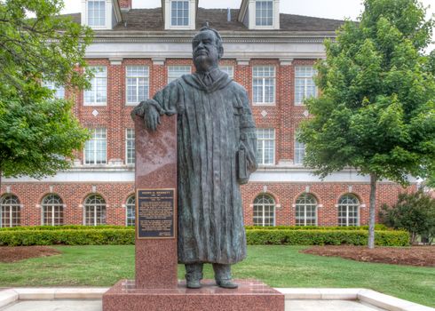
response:
<path id="1" fill-rule="evenodd" d="M 186 282 L 176 289 L 136 289 L 123 280 L 103 296 L 103 311 L 284 311 L 284 295 L 258 281 L 235 280 L 236 290 L 222 289 L 202 280 L 202 288 L 189 290 Z"/>

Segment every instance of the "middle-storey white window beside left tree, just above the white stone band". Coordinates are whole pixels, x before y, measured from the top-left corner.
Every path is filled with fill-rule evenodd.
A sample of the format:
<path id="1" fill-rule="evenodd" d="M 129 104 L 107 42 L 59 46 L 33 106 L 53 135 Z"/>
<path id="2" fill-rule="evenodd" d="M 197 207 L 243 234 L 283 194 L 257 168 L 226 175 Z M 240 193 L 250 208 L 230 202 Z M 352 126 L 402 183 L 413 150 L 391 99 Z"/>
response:
<path id="1" fill-rule="evenodd" d="M 107 134 L 106 129 L 91 130 L 91 140 L 84 145 L 85 164 L 107 163 Z"/>

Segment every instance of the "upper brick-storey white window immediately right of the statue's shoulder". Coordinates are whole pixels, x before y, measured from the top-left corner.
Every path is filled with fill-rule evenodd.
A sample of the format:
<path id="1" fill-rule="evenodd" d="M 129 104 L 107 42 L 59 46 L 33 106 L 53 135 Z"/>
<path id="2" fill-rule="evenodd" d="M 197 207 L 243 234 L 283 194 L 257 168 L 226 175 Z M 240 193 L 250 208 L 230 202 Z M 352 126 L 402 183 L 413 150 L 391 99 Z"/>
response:
<path id="1" fill-rule="evenodd" d="M 253 92 L 255 104 L 273 104 L 275 102 L 275 68 L 258 66 L 253 68 Z"/>

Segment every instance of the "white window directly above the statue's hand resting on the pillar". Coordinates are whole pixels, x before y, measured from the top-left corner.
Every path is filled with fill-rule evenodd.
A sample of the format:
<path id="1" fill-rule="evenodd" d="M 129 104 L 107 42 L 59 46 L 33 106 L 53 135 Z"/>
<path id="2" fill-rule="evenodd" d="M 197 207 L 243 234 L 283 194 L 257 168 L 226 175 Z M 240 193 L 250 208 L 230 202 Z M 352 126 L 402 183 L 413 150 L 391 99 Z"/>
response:
<path id="1" fill-rule="evenodd" d="M 128 66 L 126 68 L 127 105 L 137 105 L 148 99 L 149 69 L 146 66 Z"/>

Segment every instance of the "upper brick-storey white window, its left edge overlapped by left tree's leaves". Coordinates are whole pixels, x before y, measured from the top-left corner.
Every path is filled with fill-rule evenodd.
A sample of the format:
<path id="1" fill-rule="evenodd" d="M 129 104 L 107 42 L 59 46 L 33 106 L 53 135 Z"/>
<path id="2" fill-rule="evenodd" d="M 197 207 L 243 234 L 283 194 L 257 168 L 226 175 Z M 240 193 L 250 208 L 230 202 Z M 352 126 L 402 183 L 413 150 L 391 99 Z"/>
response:
<path id="1" fill-rule="evenodd" d="M 90 67 L 95 70 L 91 79 L 91 90 L 84 91 L 85 106 L 107 105 L 107 68 L 104 66 Z"/>

